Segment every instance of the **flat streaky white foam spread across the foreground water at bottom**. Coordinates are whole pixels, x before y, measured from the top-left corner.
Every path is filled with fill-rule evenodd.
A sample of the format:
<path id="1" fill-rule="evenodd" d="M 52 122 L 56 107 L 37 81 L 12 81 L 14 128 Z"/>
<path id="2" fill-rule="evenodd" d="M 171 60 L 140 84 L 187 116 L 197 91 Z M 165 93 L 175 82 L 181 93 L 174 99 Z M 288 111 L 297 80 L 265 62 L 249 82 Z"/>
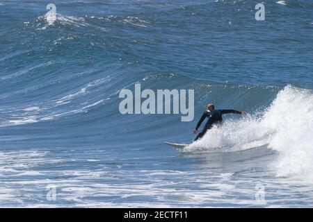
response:
<path id="1" fill-rule="evenodd" d="M 0 205 L 18 207 L 220 207 L 282 206 L 290 201 L 289 183 L 298 181 L 264 180 L 266 195 L 280 195 L 280 200 L 255 201 L 255 181 L 234 173 L 176 170 L 118 170 L 62 169 L 49 152 L 0 152 Z M 14 161 L 13 161 L 14 160 Z M 88 159 L 90 160 L 90 159 Z M 86 161 L 88 161 L 86 160 Z M 42 164 L 42 167 L 40 165 Z M 48 165 L 46 165 L 48 164 Z M 38 167 L 38 168 L 37 168 Z M 48 168 L 47 168 L 48 167 Z M 37 169 L 36 169 L 37 168 Z M 10 170 L 8 170 L 10 169 Z M 140 176 L 140 177 L 138 177 Z M 127 182 L 122 182 L 126 180 Z M 289 179 L 288 179 L 289 180 Z M 47 185 L 56 186 L 58 202 L 47 201 Z M 190 189 L 186 185 L 191 186 Z M 271 189 L 270 189 L 271 187 Z M 273 189 L 275 187 L 275 189 Z M 271 194 L 271 190 L 278 192 Z M 310 195 L 310 187 L 299 187 L 299 192 Z M 248 196 L 248 198 L 238 198 Z M 294 194 L 296 196 L 296 194 Z M 148 197 L 148 198 L 145 198 Z"/>

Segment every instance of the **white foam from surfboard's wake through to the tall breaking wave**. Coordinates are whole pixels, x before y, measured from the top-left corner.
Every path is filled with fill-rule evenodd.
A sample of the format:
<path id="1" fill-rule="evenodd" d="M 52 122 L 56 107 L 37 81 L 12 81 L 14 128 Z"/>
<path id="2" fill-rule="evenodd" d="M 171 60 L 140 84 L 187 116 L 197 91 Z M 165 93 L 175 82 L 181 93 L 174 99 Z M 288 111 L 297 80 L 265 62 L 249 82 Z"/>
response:
<path id="1" fill-rule="evenodd" d="M 240 151 L 267 145 L 279 152 L 273 164 L 277 176 L 297 176 L 313 182 L 313 93 L 284 87 L 262 118 L 225 121 L 184 151 Z"/>

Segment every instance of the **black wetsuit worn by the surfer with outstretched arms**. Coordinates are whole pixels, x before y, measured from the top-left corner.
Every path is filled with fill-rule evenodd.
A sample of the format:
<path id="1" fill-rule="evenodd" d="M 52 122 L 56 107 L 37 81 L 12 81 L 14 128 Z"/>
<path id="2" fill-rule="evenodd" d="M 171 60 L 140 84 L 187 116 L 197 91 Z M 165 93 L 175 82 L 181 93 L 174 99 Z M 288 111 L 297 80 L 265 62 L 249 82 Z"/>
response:
<path id="1" fill-rule="evenodd" d="M 198 124 L 195 127 L 195 129 L 198 130 L 202 121 L 204 121 L 206 117 L 208 118 L 208 120 L 207 120 L 207 123 L 205 123 L 205 126 L 202 129 L 202 131 L 198 134 L 197 137 L 195 137 L 195 140 L 198 140 L 201 137 L 203 137 L 204 134 L 207 133 L 207 130 L 212 128 L 214 124 L 222 123 L 223 121 L 222 114 L 227 114 L 227 113 L 241 114 L 241 112 L 236 111 L 236 110 L 205 110 L 204 113 L 202 114 L 202 117 L 198 121 Z"/>

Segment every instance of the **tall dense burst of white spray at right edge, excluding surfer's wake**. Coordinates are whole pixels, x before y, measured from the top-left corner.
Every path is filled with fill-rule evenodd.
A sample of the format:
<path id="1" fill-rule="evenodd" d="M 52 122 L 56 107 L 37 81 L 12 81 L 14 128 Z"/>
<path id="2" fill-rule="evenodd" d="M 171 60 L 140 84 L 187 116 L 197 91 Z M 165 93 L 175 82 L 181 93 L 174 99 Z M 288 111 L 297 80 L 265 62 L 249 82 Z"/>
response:
<path id="1" fill-rule="evenodd" d="M 278 176 L 313 178 L 313 94 L 288 85 L 273 101 L 262 124 L 275 129 L 269 147 L 280 152 Z"/>

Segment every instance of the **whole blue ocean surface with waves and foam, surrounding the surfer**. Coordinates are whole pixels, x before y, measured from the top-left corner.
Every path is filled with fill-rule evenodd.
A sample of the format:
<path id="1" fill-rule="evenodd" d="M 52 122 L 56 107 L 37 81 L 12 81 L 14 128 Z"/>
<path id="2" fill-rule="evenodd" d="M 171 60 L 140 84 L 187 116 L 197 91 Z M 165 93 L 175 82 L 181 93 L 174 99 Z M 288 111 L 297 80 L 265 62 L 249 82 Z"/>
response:
<path id="1" fill-rule="evenodd" d="M 262 2 L 0 0 L 0 207 L 312 207 L 313 2 Z M 136 83 L 195 118 L 120 114 Z M 163 143 L 208 102 L 249 115 Z"/>

